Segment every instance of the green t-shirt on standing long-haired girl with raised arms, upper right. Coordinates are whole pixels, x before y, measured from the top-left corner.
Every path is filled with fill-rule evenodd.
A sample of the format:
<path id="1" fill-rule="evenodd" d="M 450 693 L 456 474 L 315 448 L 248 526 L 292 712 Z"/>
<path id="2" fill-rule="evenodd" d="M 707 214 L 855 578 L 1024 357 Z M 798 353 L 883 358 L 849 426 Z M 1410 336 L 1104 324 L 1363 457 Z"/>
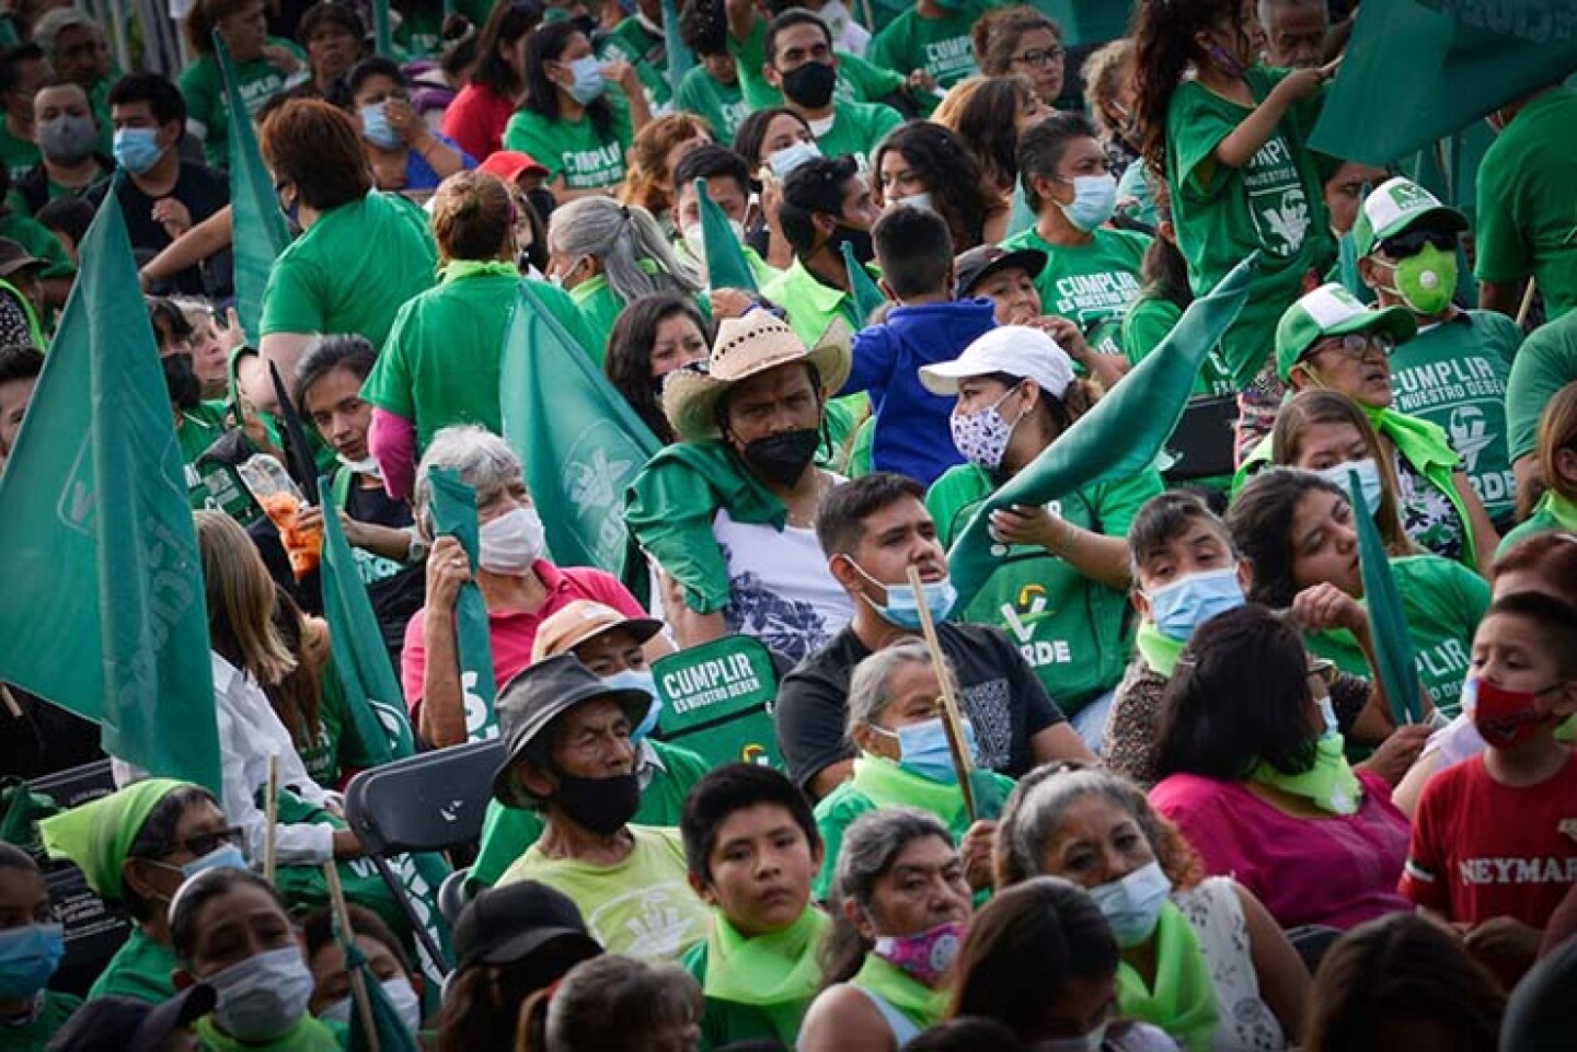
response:
<path id="1" fill-rule="evenodd" d="M 1287 69 L 1254 66 L 1249 91 L 1263 101 Z M 1184 80 L 1167 109 L 1167 183 L 1178 249 L 1195 295 L 1210 292 L 1243 257 L 1262 249 L 1249 300 L 1221 341 L 1240 388 L 1263 367 L 1276 323 L 1303 292 L 1310 271 L 1336 262 L 1323 181 L 1307 137 L 1323 93 L 1287 109 L 1276 131 L 1241 169 L 1214 159 L 1216 147 L 1252 112 Z"/>

